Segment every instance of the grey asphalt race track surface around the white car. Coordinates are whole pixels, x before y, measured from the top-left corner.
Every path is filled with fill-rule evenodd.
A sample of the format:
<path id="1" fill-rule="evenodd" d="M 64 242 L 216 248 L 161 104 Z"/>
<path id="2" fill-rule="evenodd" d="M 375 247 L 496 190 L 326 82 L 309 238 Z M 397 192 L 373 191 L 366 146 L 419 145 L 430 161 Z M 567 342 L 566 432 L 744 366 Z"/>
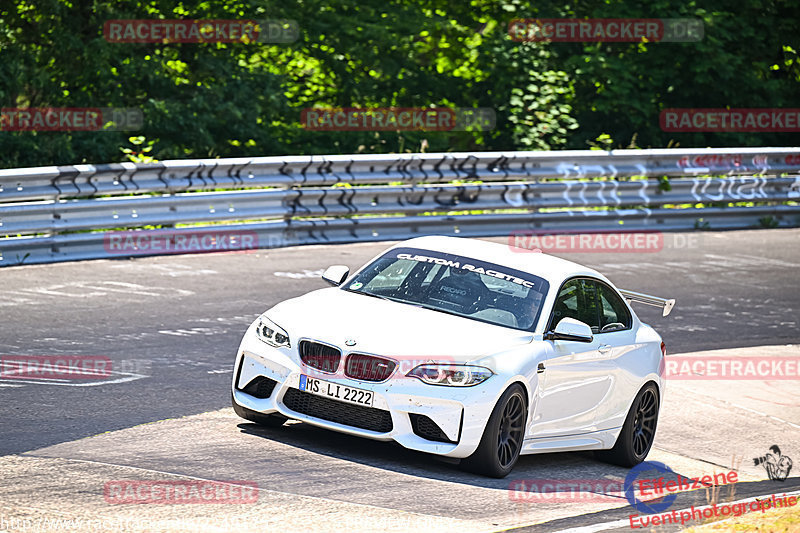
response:
<path id="1" fill-rule="evenodd" d="M 667 234 L 655 253 L 556 255 L 595 267 L 620 287 L 676 298 L 666 318 L 655 308 L 637 308 L 669 353 L 755 347 L 741 354 L 782 357 L 797 356 L 784 345 L 800 342 L 798 245 L 800 230 L 754 230 Z M 0 454 L 6 455 L 0 457 L 0 530 L 6 515 L 120 517 L 139 507 L 139 514 L 185 517 L 186 510 L 153 505 L 142 511 L 103 501 L 104 480 L 148 476 L 256 481 L 262 491 L 256 505 L 192 506 L 190 515 L 220 530 L 230 525 L 225 513 L 244 520 L 237 524 L 243 530 L 292 518 L 300 522 L 290 529 L 554 531 L 613 526 L 636 512 L 624 498 L 520 502 L 510 496 L 515 479 L 624 479 L 625 469 L 587 453 L 523 457 L 509 478 L 489 480 L 389 443 L 301 423 L 264 429 L 235 417 L 231 366 L 247 325 L 281 300 L 324 287 L 325 266 L 356 268 L 387 246 L 0 270 L 0 354 L 106 356 L 114 369 L 108 379 L 82 383 L 0 379 Z M 737 499 L 798 490 L 797 470 L 783 483 L 769 481 L 752 458 L 772 444 L 800 458 L 799 389 L 797 381 L 671 384 L 648 459 L 683 475 L 742 461 Z M 705 491 L 695 491 L 670 509 L 705 502 Z M 267 516 L 278 521 L 265 522 Z M 363 518 L 351 523 L 353 516 Z"/>

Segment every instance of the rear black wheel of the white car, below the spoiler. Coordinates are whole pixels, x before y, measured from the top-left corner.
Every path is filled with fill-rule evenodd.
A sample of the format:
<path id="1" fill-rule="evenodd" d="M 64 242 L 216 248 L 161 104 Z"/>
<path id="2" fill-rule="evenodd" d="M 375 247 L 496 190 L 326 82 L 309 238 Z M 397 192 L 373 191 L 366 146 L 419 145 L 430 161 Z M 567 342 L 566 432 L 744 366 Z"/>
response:
<path id="1" fill-rule="evenodd" d="M 648 383 L 634 398 L 614 447 L 596 451 L 595 457 L 606 463 L 626 467 L 633 467 L 644 461 L 656 435 L 658 409 L 658 389 L 655 384 Z"/>

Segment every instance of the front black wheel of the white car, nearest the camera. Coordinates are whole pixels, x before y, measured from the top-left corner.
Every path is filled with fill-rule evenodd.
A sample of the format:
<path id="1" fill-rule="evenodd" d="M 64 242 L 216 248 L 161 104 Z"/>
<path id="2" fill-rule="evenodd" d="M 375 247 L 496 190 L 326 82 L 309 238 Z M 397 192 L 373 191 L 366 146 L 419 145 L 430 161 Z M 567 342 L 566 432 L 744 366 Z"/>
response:
<path id="1" fill-rule="evenodd" d="M 506 477 L 519 459 L 527 420 L 525 389 L 515 383 L 497 401 L 478 449 L 462 459 L 460 467 L 484 476 Z"/>

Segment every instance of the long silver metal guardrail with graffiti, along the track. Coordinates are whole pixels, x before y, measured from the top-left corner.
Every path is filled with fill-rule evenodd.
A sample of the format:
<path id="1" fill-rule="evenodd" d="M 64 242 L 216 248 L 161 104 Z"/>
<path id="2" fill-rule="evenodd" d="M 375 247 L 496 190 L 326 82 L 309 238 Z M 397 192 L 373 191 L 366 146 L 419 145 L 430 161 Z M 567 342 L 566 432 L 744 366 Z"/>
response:
<path id="1" fill-rule="evenodd" d="M 109 247 L 114 232 L 146 226 L 199 225 L 170 229 L 176 236 L 247 231 L 257 236 L 256 247 L 266 248 L 424 234 L 619 230 L 621 223 L 626 231 L 733 229 L 757 226 L 764 217 L 794 226 L 800 225 L 798 201 L 800 148 L 293 156 L 11 169 L 0 170 L 0 266 L 159 253 Z M 743 202 L 750 205 L 728 205 Z M 713 205 L 686 207 L 696 204 Z"/>

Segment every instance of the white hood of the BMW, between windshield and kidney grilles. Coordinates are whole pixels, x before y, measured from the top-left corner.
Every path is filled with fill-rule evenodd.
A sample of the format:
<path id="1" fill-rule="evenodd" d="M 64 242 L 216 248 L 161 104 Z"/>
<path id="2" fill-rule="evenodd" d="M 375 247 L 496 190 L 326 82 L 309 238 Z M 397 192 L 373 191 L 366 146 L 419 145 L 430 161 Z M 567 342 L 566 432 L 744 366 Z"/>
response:
<path id="1" fill-rule="evenodd" d="M 530 343 L 533 334 L 337 288 L 286 300 L 266 316 L 293 342 L 314 339 L 395 358 L 467 362 Z M 356 342 L 346 346 L 345 341 Z"/>

